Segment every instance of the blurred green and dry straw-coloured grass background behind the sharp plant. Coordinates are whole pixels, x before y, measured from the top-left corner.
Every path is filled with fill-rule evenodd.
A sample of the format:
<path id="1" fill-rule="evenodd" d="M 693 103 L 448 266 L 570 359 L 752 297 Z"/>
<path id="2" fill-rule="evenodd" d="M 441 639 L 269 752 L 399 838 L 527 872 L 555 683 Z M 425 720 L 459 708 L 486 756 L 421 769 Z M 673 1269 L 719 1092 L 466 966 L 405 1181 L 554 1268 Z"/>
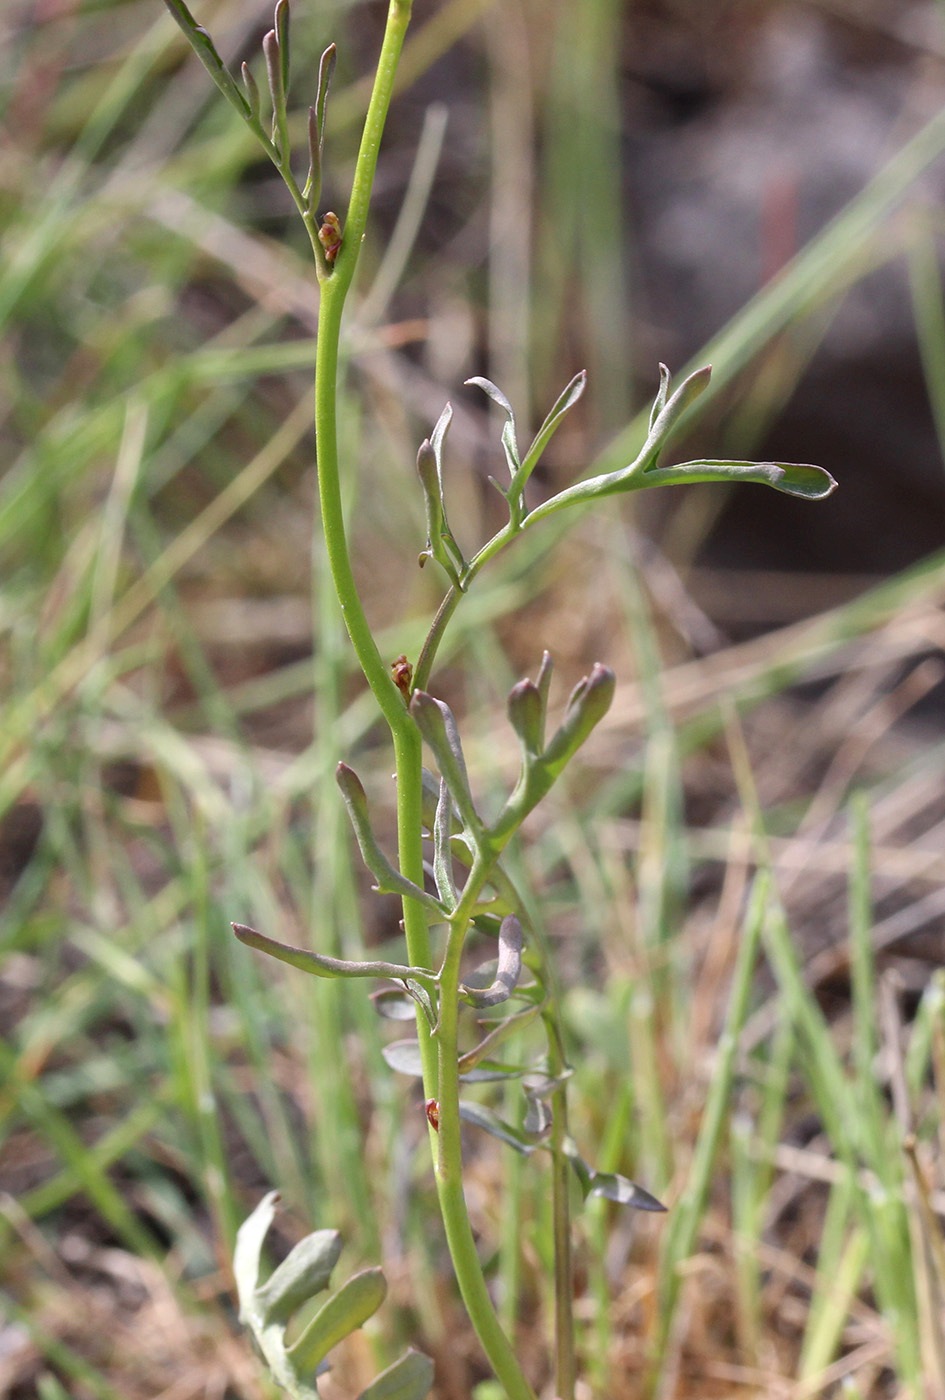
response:
<path id="1" fill-rule="evenodd" d="M 269 22 L 199 17 L 231 60 Z M 382 7 L 294 17 L 302 109 L 339 45 L 340 210 Z M 398 932 L 330 777 L 354 762 L 391 820 L 312 552 L 301 230 L 157 0 L 0 25 L 0 1394 L 266 1396 L 228 1257 L 279 1186 L 286 1246 L 333 1225 L 344 1266 L 391 1281 L 325 1394 L 413 1341 L 468 1400 L 482 1364 L 391 1028 L 228 934 L 356 955 Z M 841 482 L 818 508 L 700 489 L 529 538 L 444 652 L 484 799 L 543 647 L 559 703 L 594 659 L 620 679 L 517 857 L 568 988 L 575 1135 L 671 1207 L 581 1217 L 595 1397 L 945 1394 L 944 49 L 934 4 L 416 0 L 343 400 L 385 654 L 416 655 L 438 601 L 413 459 L 445 398 L 454 528 L 497 518 L 469 374 L 535 423 L 588 367 L 539 491 L 626 461 L 657 361 L 700 356 L 699 451 Z M 766 63 L 862 99 L 871 169 L 832 174 L 840 116 L 776 168 L 798 127 Z M 773 146 L 725 144 L 766 123 Z M 469 1198 L 547 1386 L 542 1168 L 470 1138 Z"/>

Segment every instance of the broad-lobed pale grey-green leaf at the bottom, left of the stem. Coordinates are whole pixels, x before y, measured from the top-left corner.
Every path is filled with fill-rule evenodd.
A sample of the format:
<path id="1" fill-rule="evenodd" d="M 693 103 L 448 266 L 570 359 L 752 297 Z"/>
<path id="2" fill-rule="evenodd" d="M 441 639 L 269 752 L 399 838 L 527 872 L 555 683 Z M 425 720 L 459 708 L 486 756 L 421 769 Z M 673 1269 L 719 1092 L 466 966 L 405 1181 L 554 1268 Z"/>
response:
<path id="1" fill-rule="evenodd" d="M 234 1253 L 239 1320 L 249 1327 L 276 1382 L 293 1400 L 318 1400 L 318 1376 L 332 1347 L 372 1317 L 386 1295 L 379 1268 L 365 1268 L 329 1294 L 322 1306 L 287 1338 L 295 1315 L 329 1288 L 342 1252 L 333 1229 L 301 1239 L 273 1273 L 260 1281 L 266 1235 L 276 1215 L 279 1191 L 270 1191 L 241 1225 Z M 407 1351 L 358 1396 L 358 1400 L 424 1400 L 433 1385 L 433 1362 Z"/>

